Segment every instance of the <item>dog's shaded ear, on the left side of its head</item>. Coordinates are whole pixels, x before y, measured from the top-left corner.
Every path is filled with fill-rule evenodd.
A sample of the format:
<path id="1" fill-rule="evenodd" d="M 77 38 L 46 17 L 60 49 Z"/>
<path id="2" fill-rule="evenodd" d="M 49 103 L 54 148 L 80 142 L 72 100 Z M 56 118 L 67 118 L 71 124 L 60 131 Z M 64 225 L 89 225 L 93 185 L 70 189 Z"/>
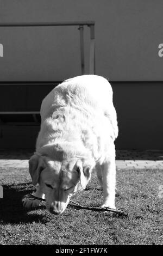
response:
<path id="1" fill-rule="evenodd" d="M 45 162 L 43 161 L 42 157 L 34 154 L 29 159 L 29 173 L 32 178 L 33 185 L 37 185 L 39 181 L 39 175 L 41 170 L 45 169 Z"/>

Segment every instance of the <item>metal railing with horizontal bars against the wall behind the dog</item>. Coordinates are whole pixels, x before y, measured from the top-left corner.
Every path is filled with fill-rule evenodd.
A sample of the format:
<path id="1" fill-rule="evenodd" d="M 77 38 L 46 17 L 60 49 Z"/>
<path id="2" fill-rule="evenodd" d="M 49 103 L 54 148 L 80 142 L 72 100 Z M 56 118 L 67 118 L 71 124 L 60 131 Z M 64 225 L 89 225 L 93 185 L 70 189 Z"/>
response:
<path id="1" fill-rule="evenodd" d="M 85 74 L 84 61 L 84 26 L 90 28 L 90 59 L 89 74 L 95 74 L 95 22 L 94 21 L 67 21 L 67 22 L 28 22 L 28 23 L 0 23 L 0 27 L 45 27 L 45 26 L 78 26 L 80 32 L 80 61 L 82 75 Z M 14 83 L 16 84 L 16 83 Z M 19 83 L 20 84 L 20 83 Z M 0 84 L 1 85 L 1 84 Z M 38 111 L 10 111 L 0 114 L 38 114 Z"/>

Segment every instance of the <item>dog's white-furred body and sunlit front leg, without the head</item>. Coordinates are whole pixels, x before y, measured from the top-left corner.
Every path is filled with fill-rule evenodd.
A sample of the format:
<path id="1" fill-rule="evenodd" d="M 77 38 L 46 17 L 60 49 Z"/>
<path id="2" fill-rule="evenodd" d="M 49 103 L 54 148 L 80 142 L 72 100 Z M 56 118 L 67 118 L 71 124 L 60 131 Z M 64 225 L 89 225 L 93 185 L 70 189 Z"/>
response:
<path id="1" fill-rule="evenodd" d="M 115 208 L 117 135 L 110 83 L 101 76 L 77 76 L 59 84 L 42 101 L 36 153 L 42 154 L 46 148 L 52 158 L 52 148 L 55 153 L 61 148 L 71 157 L 89 159 L 103 186 L 103 206 Z"/>

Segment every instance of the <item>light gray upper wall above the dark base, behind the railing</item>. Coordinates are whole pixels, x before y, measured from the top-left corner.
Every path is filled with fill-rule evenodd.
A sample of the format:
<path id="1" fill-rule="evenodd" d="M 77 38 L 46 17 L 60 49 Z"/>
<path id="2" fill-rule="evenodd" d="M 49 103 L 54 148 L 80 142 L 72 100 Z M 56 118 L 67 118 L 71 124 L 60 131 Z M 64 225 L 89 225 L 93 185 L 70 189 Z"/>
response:
<path id="1" fill-rule="evenodd" d="M 110 81 L 162 81 L 162 0 L 1 0 L 0 22 L 95 20 L 96 72 Z M 77 27 L 0 28 L 1 81 L 80 74 Z M 85 58 L 89 28 L 85 28 Z M 88 71 L 88 69 L 86 69 Z"/>

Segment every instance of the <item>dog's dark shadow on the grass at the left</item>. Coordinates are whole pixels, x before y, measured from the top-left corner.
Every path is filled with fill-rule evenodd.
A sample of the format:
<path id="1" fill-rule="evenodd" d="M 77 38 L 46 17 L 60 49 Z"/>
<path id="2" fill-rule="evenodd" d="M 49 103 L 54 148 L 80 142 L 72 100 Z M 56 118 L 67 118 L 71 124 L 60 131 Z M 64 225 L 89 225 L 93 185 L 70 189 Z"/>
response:
<path id="1" fill-rule="evenodd" d="M 0 223 L 32 223 L 44 222 L 43 215 L 23 207 L 22 199 L 32 193 L 31 183 L 21 183 L 3 186 L 3 198 L 0 199 Z M 40 206 L 45 209 L 45 206 Z"/>

